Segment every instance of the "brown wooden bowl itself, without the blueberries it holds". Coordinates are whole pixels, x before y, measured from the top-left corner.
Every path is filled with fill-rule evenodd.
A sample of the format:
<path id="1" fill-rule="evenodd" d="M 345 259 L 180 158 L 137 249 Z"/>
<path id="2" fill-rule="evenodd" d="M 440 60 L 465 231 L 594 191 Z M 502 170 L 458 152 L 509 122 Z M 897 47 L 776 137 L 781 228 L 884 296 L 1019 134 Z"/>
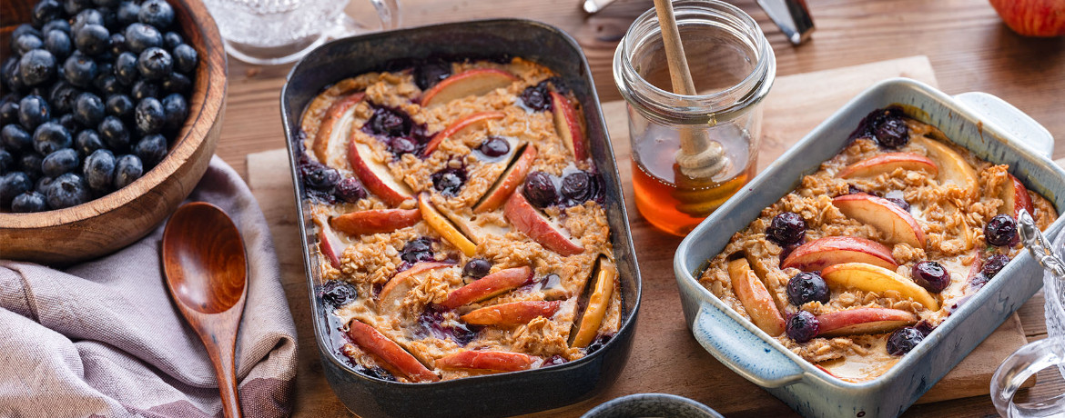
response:
<path id="1" fill-rule="evenodd" d="M 109 254 L 141 239 L 189 197 L 218 144 L 226 107 L 226 51 L 199 0 L 168 0 L 199 64 L 189 120 L 169 153 L 132 184 L 77 206 L 32 214 L 0 213 L 0 258 L 66 265 Z M 0 5 L 0 56 L 11 56 L 11 32 L 30 21 L 36 0 Z"/>

